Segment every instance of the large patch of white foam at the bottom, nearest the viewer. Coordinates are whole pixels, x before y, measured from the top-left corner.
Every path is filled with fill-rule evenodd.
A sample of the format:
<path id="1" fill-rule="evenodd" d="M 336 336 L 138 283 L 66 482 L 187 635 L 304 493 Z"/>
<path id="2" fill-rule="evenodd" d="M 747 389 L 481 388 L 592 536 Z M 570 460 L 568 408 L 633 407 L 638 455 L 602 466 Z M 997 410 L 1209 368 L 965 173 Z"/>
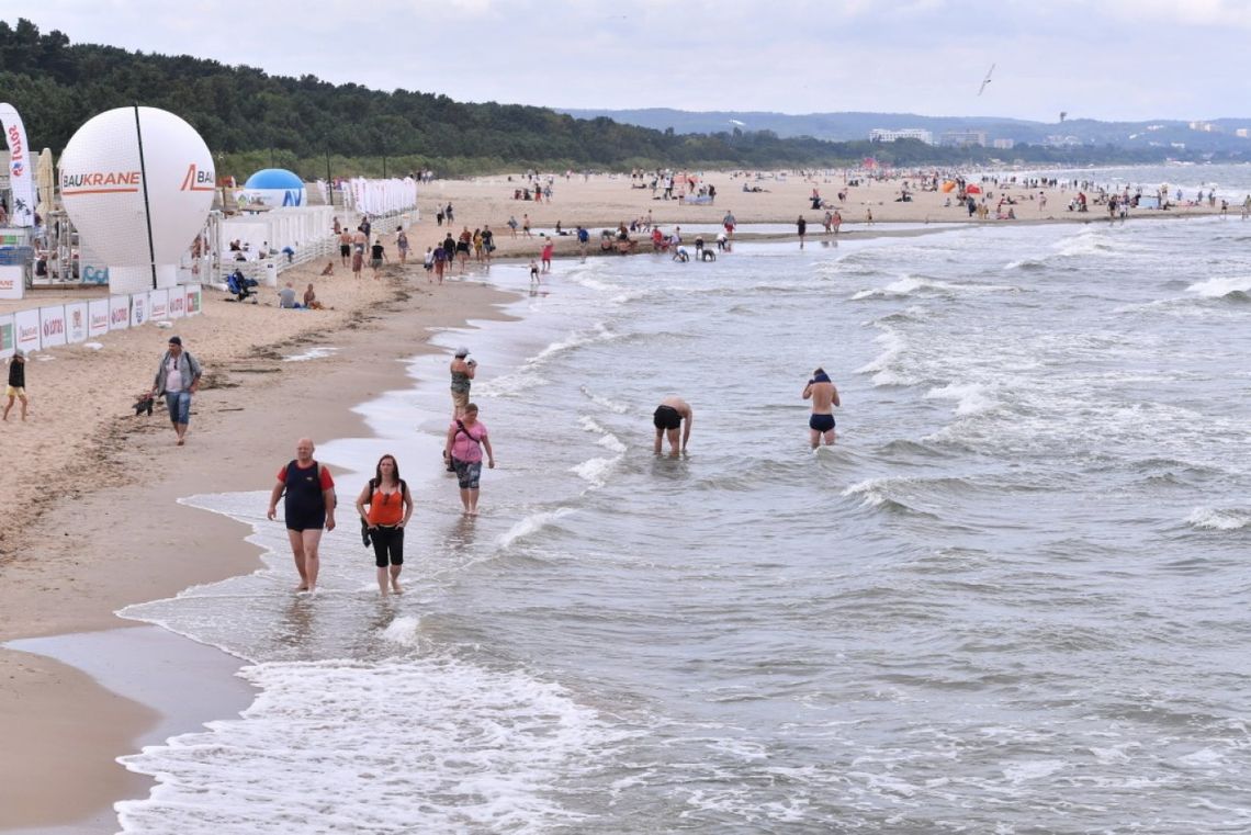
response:
<path id="1" fill-rule="evenodd" d="M 263 688 L 243 719 L 123 758 L 156 779 L 123 831 L 550 831 L 580 820 L 553 784 L 617 736 L 558 684 L 454 659 L 241 675 Z"/>

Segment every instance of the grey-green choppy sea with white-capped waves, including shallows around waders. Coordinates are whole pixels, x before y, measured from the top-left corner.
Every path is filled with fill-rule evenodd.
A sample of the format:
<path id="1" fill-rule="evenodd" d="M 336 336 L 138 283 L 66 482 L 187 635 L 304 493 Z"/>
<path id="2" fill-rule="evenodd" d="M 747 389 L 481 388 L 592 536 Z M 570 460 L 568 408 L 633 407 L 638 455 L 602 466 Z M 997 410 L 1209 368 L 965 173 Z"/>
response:
<path id="1" fill-rule="evenodd" d="M 399 598 L 350 508 L 295 595 L 269 484 L 181 499 L 265 568 L 121 614 L 258 695 L 124 758 L 156 785 L 121 831 L 1251 831 L 1251 220 L 867 231 L 493 266 L 515 320 L 318 439 L 344 504 L 398 458 Z M 440 461 L 460 344 L 475 519 Z M 657 456 L 674 394 L 689 450 Z"/>

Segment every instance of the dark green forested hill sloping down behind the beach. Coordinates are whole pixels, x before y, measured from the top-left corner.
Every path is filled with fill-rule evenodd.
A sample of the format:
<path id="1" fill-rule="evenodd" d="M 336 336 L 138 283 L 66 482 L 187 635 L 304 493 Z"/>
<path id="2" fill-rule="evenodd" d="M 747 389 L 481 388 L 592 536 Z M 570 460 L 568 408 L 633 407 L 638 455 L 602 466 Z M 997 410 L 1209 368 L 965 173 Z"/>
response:
<path id="1" fill-rule="evenodd" d="M 308 179 L 378 175 L 429 166 L 440 174 L 520 168 L 632 166 L 804 168 L 856 164 L 876 156 L 897 165 L 987 162 L 996 151 L 941 149 L 917 141 L 829 142 L 777 134 L 676 134 L 579 120 L 544 108 L 462 104 L 442 95 L 382 92 L 334 85 L 311 75 L 269 76 L 246 66 L 71 44 L 29 20 L 0 21 L 0 96 L 23 115 L 33 148 L 60 154 L 78 128 L 111 108 L 146 105 L 178 114 L 214 154 L 219 174 L 280 165 Z M 1002 151 L 998 151 L 1002 154 Z M 1026 148 L 1031 162 L 1148 161 L 1115 149 Z M 389 169 L 388 169 L 389 164 Z"/>

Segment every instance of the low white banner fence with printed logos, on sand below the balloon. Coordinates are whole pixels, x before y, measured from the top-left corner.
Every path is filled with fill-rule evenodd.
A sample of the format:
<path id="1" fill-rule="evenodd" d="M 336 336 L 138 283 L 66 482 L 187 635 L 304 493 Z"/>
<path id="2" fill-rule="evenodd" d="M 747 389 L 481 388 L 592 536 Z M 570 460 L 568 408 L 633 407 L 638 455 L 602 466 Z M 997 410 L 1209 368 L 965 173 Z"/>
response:
<path id="1" fill-rule="evenodd" d="M 70 301 L 0 315 L 0 359 L 99 339 L 111 330 L 149 321 L 195 316 L 204 308 L 200 285 Z"/>

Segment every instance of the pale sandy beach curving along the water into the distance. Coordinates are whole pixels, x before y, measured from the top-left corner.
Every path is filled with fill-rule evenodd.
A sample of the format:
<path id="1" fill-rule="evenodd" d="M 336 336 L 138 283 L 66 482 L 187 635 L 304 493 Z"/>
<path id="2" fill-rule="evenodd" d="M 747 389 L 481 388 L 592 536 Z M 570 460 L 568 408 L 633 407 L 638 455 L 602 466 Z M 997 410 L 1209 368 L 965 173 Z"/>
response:
<path id="1" fill-rule="evenodd" d="M 113 612 L 258 568 L 256 549 L 243 541 L 244 526 L 176 499 L 268 489 L 276 468 L 293 456 L 296 438 L 364 432 L 352 406 L 397 385 L 399 371 L 389 360 L 437 350 L 427 346 L 430 329 L 499 316 L 498 305 L 513 298 L 490 288 L 489 270 L 477 264 L 464 274 L 453 268 L 443 285 L 428 282 L 422 252 L 448 231 L 437 226 L 435 206 L 453 204 L 453 234 L 489 225 L 499 246 L 497 258 L 524 259 L 538 254 L 539 232 L 558 221 L 565 230 L 588 226 L 592 254 L 599 255 L 600 229 L 628 225 L 648 212 L 666 231 L 719 225 L 727 211 L 741 225 L 793 226 L 802 215 L 808 235 L 819 238 L 824 211 L 811 208 L 809 195 L 816 188 L 837 202 L 844 188 L 834 175 L 747 180 L 708 174 L 704 180 L 717 186 L 714 205 L 654 200 L 651 189 L 632 189 L 628 175 L 558 178 L 553 200 L 542 204 L 512 199 L 523 186 L 519 175 L 437 180 L 420 191 L 422 221 L 408 231 L 413 248 L 408 266 L 394 264 L 390 234 L 384 242 L 393 262 L 380 281 L 368 270 L 354 280 L 338 259 L 333 278 L 319 276 L 322 264 L 281 274 L 280 282 L 290 280 L 298 289 L 314 282 L 319 299 L 333 310 L 281 310 L 269 289 L 261 289 L 261 304 L 255 306 L 205 290 L 204 314 L 179 321 L 174 330 L 144 326 L 109 334 L 100 350 L 76 345 L 36 355 L 28 366 L 29 420 L 21 421 L 15 410 L 0 425 L 6 462 L 0 495 L 8 504 L 0 519 L 0 642 L 131 630 L 133 622 Z M 743 192 L 743 182 L 763 190 Z M 901 222 L 976 222 L 962 209 L 946 206 L 948 195 L 942 192 L 914 191 L 911 201 L 897 202 L 901 189 L 902 180 L 849 188 L 841 209 L 842 234 L 891 234 L 892 224 Z M 988 222 L 1107 222 L 1103 206 L 1068 211 L 1076 195 L 1071 188 L 1045 190 L 1045 206 L 1037 189 L 1002 191 L 1016 200 L 1017 220 Z M 1133 211 L 1131 218 L 1217 212 L 1218 204 Z M 524 215 L 534 236 L 519 232 L 514 239 L 507 221 L 509 216 L 522 221 Z M 572 235 L 555 240 L 557 258 L 577 254 Z M 39 291 L 25 306 L 31 299 L 48 304 L 63 298 L 64 292 Z M 3 310 L 13 308 L 6 304 Z M 135 418 L 130 408 L 134 395 L 151 384 L 174 332 L 205 369 L 183 448 L 174 445 L 160 404 L 150 418 Z M 283 361 L 311 346 L 337 350 L 311 361 Z M 131 645 L 134 652 L 146 652 L 138 635 L 130 644 L 123 640 L 101 651 L 116 652 L 120 668 L 129 650 L 118 646 Z M 204 659 L 193 664 L 214 679 L 226 679 L 231 668 L 225 656 L 220 664 Z M 133 675 L 160 676 L 151 669 L 131 669 Z M 194 686 L 194 678 L 184 676 L 181 684 L 161 680 L 170 689 Z M 143 795 L 149 785 L 114 762 L 116 756 L 133 751 L 136 740 L 156 728 L 191 730 L 220 715 L 214 710 L 238 711 L 248 699 L 246 688 L 235 682 L 215 708 L 189 710 L 169 730 L 169 709 L 156 706 L 158 700 L 125 698 L 115 692 L 115 682 L 114 689 L 103 682 L 44 655 L 0 649 L 0 738 L 6 742 L 6 756 L 0 759 L 0 831 L 58 826 L 113 831 L 111 804 Z"/>

